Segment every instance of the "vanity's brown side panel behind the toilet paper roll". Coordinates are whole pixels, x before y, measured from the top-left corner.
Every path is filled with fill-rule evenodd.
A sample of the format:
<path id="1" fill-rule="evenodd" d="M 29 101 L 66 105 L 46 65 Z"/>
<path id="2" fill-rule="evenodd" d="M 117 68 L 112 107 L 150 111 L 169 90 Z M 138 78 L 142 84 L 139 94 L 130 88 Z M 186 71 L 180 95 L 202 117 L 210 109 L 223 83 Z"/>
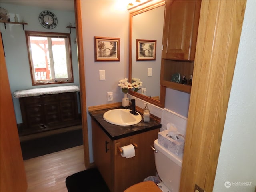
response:
<path id="1" fill-rule="evenodd" d="M 114 190 L 122 192 L 128 187 L 142 182 L 146 177 L 156 175 L 154 152 L 151 146 L 157 139 L 159 129 L 150 130 L 130 137 L 115 140 L 114 151 Z M 118 153 L 117 146 L 126 146 L 132 143 L 138 145 L 135 157 L 125 158 Z"/>

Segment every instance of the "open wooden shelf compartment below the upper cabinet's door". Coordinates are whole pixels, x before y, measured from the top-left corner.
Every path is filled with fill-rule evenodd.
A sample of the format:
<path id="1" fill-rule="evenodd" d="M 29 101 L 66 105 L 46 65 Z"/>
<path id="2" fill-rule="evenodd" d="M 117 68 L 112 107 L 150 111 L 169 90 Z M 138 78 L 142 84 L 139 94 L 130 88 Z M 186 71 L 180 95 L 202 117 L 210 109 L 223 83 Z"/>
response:
<path id="1" fill-rule="evenodd" d="M 171 89 L 190 93 L 191 86 L 188 84 L 181 84 L 182 76 L 185 75 L 187 82 L 190 79 L 190 75 L 193 74 L 194 62 L 191 61 L 176 61 L 162 59 L 161 65 L 161 78 L 160 84 Z M 172 82 L 172 75 L 180 73 L 180 82 Z"/>

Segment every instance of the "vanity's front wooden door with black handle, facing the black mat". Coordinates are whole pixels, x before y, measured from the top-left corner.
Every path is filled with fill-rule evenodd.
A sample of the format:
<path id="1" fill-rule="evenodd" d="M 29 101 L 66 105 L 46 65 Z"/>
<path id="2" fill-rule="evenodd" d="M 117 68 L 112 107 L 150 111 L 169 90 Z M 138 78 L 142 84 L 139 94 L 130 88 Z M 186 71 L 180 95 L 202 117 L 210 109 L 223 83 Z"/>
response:
<path id="1" fill-rule="evenodd" d="M 110 191 L 112 191 L 112 141 L 92 119 L 92 146 L 94 164 L 100 171 Z"/>

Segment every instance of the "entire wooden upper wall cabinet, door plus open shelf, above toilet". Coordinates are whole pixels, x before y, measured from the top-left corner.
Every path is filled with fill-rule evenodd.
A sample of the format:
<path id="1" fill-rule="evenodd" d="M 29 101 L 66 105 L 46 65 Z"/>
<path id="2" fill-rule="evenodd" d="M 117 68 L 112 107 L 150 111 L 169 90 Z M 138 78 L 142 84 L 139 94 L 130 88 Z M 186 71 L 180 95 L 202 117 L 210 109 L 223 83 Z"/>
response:
<path id="1" fill-rule="evenodd" d="M 200 16 L 200 0 L 166 1 L 160 84 L 190 93 L 191 86 L 171 82 L 172 75 L 180 79 L 193 74 L 196 40 Z"/>

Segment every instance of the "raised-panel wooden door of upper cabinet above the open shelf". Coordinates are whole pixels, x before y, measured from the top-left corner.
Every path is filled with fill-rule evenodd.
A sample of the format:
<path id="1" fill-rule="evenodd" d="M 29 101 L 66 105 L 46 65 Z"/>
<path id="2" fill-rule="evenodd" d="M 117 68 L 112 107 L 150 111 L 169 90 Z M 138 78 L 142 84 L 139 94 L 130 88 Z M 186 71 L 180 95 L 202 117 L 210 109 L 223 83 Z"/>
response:
<path id="1" fill-rule="evenodd" d="M 195 58 L 200 0 L 166 0 L 162 58 Z"/>

